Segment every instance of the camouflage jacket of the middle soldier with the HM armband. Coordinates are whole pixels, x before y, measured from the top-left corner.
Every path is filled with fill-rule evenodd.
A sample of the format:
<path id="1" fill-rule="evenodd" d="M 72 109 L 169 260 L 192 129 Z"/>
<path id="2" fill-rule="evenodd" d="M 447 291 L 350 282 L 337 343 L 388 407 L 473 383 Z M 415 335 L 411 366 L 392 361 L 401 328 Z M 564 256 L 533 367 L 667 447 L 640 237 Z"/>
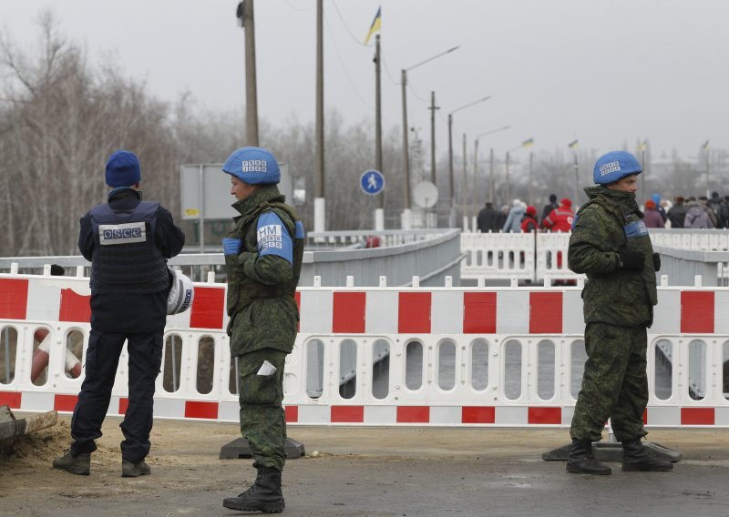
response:
<path id="1" fill-rule="evenodd" d="M 275 255 L 260 256 L 256 227 L 262 213 L 272 211 L 293 238 L 298 218 L 293 208 L 282 209 L 282 202 L 279 189 L 270 185 L 232 205 L 241 216 L 233 218 L 236 226 L 228 237 L 243 241 L 239 255 L 225 257 L 231 317 L 228 334 L 233 356 L 266 348 L 286 353 L 293 349 L 299 322 L 294 292 L 301 269 L 303 239 L 300 252 L 296 253 L 294 248 L 293 263 Z"/>

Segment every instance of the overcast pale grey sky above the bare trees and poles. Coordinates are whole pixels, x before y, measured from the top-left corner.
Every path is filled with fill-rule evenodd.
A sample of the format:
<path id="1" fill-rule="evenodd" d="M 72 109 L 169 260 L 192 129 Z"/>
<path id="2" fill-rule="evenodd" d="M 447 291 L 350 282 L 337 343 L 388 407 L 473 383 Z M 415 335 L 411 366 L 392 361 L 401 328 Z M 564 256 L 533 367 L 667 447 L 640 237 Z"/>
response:
<path id="1" fill-rule="evenodd" d="M 4 30 L 32 45 L 40 9 L 98 61 L 116 56 L 149 92 L 183 91 L 215 110 L 243 109 L 243 32 L 238 0 L 0 0 Z M 436 92 L 438 154 L 454 115 L 460 154 L 473 137 L 500 154 L 530 137 L 530 150 L 579 139 L 597 152 L 648 139 L 653 157 L 673 149 L 695 159 L 707 139 L 729 147 L 729 2 L 725 0 L 324 0 L 324 105 L 372 123 L 374 46 L 364 37 L 382 5 L 383 122 L 401 124 L 400 70 L 408 72 L 409 125 L 430 140 Z M 312 122 L 315 0 L 256 0 L 259 116 L 280 126 Z M 724 57 L 723 57 L 724 56 Z"/>

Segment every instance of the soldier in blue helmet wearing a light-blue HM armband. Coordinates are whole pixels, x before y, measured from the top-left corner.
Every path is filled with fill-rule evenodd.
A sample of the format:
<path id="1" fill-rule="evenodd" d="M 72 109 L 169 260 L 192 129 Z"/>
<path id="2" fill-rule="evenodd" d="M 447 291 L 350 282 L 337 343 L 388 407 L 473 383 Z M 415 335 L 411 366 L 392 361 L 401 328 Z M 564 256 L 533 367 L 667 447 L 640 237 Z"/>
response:
<path id="1" fill-rule="evenodd" d="M 284 508 L 281 472 L 286 421 L 283 365 L 299 321 L 294 299 L 302 267 L 303 225 L 284 204 L 276 158 L 260 147 L 238 149 L 222 167 L 231 175 L 235 228 L 223 238 L 228 272 L 228 335 L 239 358 L 241 434 L 251 446 L 255 483 L 223 506 L 245 512 Z"/>

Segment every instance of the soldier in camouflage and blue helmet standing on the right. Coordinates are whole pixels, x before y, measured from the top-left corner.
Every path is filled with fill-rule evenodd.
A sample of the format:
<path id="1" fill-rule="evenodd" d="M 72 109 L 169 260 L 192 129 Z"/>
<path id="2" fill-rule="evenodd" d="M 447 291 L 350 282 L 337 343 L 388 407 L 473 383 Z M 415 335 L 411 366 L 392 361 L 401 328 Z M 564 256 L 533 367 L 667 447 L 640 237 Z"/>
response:
<path id="1" fill-rule="evenodd" d="M 623 471 L 669 471 L 673 464 L 646 454 L 641 439 L 648 403 L 646 329 L 657 303 L 655 272 L 660 256 L 635 202 L 642 167 L 630 153 L 614 151 L 598 159 L 597 187 L 585 188 L 590 200 L 572 223 L 569 267 L 587 274 L 582 291 L 588 359 L 570 427 L 567 471 L 610 474 L 594 459 L 610 418 L 623 448 Z"/>

